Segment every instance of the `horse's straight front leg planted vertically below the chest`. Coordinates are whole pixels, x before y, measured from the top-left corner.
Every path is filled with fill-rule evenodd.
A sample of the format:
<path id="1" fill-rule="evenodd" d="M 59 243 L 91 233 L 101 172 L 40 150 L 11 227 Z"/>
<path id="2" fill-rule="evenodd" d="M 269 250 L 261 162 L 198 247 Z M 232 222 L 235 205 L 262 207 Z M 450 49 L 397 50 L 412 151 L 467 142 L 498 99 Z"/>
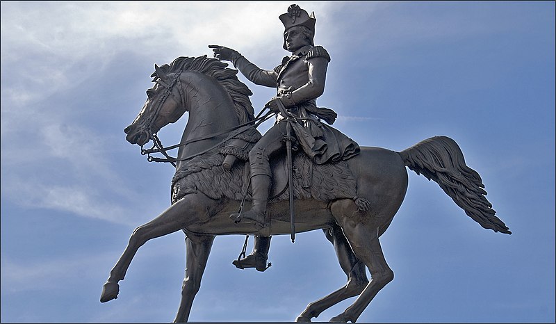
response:
<path id="1" fill-rule="evenodd" d="M 186 235 L 186 278 L 183 280 L 181 302 L 174 323 L 184 323 L 189 318 L 193 298 L 195 298 L 201 286 L 201 278 L 215 237 L 213 235 L 194 235 L 190 233 Z"/>

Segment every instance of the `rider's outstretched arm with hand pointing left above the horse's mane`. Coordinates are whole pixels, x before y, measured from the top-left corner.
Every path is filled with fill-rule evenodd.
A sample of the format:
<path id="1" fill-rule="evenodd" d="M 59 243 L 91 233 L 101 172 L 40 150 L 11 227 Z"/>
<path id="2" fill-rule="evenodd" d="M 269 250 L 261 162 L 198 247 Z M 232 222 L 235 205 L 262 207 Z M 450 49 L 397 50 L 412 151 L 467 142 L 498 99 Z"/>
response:
<path id="1" fill-rule="evenodd" d="M 213 49 L 215 58 L 218 58 L 218 60 L 229 60 L 252 83 L 259 86 L 276 88 L 277 72 L 260 69 L 234 49 L 220 45 L 208 45 L 208 47 Z"/>

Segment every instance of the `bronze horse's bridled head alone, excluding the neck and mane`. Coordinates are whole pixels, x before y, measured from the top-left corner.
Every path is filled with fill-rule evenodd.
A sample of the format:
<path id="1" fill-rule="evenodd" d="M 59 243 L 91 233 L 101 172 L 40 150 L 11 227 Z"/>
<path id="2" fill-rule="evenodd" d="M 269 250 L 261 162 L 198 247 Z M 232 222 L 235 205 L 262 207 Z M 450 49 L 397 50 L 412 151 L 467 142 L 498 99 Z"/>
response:
<path id="1" fill-rule="evenodd" d="M 152 139 L 152 135 L 162 127 L 176 122 L 186 110 L 181 91 L 180 74 L 168 73 L 168 65 L 158 67 L 154 65 L 154 86 L 147 90 L 147 101 L 139 115 L 124 129 L 126 140 L 131 144 L 145 145 Z"/>

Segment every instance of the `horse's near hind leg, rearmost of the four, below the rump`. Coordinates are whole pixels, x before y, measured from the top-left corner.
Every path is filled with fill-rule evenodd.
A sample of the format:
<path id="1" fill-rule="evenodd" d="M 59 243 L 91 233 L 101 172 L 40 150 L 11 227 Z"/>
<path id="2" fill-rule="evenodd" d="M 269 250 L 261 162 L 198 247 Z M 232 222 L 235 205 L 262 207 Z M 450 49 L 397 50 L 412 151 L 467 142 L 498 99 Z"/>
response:
<path id="1" fill-rule="evenodd" d="M 342 314 L 330 320 L 331 322 L 347 323 L 347 321 L 351 321 L 355 323 L 371 300 L 375 298 L 375 295 L 393 280 L 394 273 L 388 264 L 386 264 L 386 259 L 384 259 L 384 254 L 382 253 L 378 238 L 379 224 L 376 218 L 361 217 L 364 213 L 351 207 L 343 209 L 343 211 L 351 209 L 351 213 L 345 213 L 345 216 L 338 217 L 340 214 L 334 213 L 334 206 L 332 208 L 332 212 L 337 217 L 339 225 L 343 228 L 343 232 L 350 242 L 353 252 L 366 264 L 371 275 L 370 282 L 363 289 L 357 300 L 350 307 L 347 307 Z M 336 212 L 338 212 L 337 209 Z"/>

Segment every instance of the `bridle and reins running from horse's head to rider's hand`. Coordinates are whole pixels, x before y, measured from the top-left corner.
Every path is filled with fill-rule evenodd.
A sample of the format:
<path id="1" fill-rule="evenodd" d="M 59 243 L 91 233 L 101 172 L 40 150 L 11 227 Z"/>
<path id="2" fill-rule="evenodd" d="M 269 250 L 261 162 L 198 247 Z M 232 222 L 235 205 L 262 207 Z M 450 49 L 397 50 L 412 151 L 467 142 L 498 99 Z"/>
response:
<path id="1" fill-rule="evenodd" d="M 149 138 L 150 138 L 150 140 L 152 140 L 153 146 L 150 149 L 143 149 L 143 147 L 141 146 L 141 155 L 147 155 L 147 161 L 149 161 L 149 162 L 170 163 L 175 168 L 177 161 L 186 161 L 188 159 L 193 159 L 193 157 L 195 157 L 195 156 L 204 154 L 204 153 L 210 151 L 211 149 L 214 149 L 215 147 L 218 147 L 220 144 L 224 143 L 229 138 L 231 138 L 233 136 L 236 136 L 238 133 L 241 133 L 241 132 L 245 131 L 245 129 L 248 129 L 250 127 L 255 127 L 255 128 L 259 127 L 259 125 L 261 123 L 265 122 L 266 120 L 268 120 L 268 118 L 270 118 L 272 114 L 275 114 L 272 111 L 268 111 L 268 113 L 261 116 L 263 111 L 265 111 L 265 108 L 266 108 L 265 107 L 261 110 L 259 115 L 257 115 L 256 118 L 254 118 L 254 120 L 250 120 L 250 121 L 245 122 L 243 124 L 239 124 L 235 127 L 231 127 L 229 129 L 219 131 L 218 133 L 212 133 L 212 134 L 209 134 L 207 136 L 202 136 L 202 137 L 199 137 L 199 138 L 193 138 L 191 140 L 186 140 L 186 142 L 184 142 L 184 143 L 172 145 L 170 147 L 164 147 L 162 145 L 162 142 L 161 142 L 160 138 L 158 138 L 156 133 L 151 131 L 151 126 L 152 126 L 152 122 L 154 121 L 155 116 L 157 116 L 158 113 L 160 113 L 160 111 L 162 109 L 162 106 L 163 106 L 164 102 L 166 101 L 166 99 L 168 98 L 169 95 L 171 95 L 174 98 L 174 100 L 176 100 L 176 102 L 178 102 L 182 106 L 185 106 L 186 101 L 185 101 L 185 98 L 183 98 L 184 95 L 182 95 L 182 93 L 181 93 L 181 92 L 183 92 L 182 91 L 183 87 L 181 86 L 181 79 L 179 78 L 180 74 L 181 74 L 181 70 L 176 73 L 176 75 L 174 76 L 174 79 L 172 80 L 172 82 L 169 85 L 167 83 L 165 83 L 160 77 L 158 77 L 158 75 L 157 75 L 157 78 L 155 79 L 156 83 L 160 84 L 161 86 L 163 86 L 165 88 L 165 92 L 163 92 L 161 99 L 158 101 L 158 106 L 156 106 L 156 110 L 154 111 L 153 114 L 149 115 L 149 118 L 147 118 L 147 121 L 146 121 L 147 122 L 147 131 L 149 132 Z M 172 88 L 174 87 L 174 85 L 176 83 L 177 83 L 177 85 L 180 89 L 180 91 L 178 91 L 179 92 L 179 100 L 176 97 L 176 95 L 174 95 L 172 93 Z M 230 133 L 230 132 L 232 132 L 232 133 Z M 185 146 L 185 145 L 188 145 L 190 143 L 198 142 L 199 140 L 206 140 L 208 138 L 214 138 L 214 137 L 217 137 L 217 136 L 224 135 L 226 133 L 230 133 L 230 134 L 224 140 L 218 142 L 217 144 L 213 145 L 212 147 L 209 147 L 208 149 L 205 149 L 202 152 L 198 152 L 198 153 L 192 154 L 190 156 L 186 156 L 186 157 L 178 159 L 178 158 L 174 158 L 174 157 L 170 156 L 166 152 L 167 150 L 170 150 L 170 149 L 176 149 L 178 147 Z M 153 154 L 153 153 L 161 153 L 165 157 L 164 158 L 159 158 L 159 157 L 151 156 L 151 154 Z"/>

